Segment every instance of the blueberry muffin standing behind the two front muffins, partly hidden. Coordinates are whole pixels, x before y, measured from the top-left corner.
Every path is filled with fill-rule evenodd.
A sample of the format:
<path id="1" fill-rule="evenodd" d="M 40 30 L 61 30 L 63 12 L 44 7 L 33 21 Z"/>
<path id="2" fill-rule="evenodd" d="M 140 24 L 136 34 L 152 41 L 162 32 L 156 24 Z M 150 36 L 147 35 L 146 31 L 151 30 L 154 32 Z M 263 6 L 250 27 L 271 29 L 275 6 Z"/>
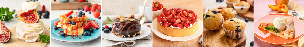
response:
<path id="1" fill-rule="evenodd" d="M 233 8 L 223 8 L 220 10 L 221 14 L 223 15 L 225 21 L 231 18 L 235 18 L 235 15 L 237 15 L 237 12 L 234 11 Z"/>

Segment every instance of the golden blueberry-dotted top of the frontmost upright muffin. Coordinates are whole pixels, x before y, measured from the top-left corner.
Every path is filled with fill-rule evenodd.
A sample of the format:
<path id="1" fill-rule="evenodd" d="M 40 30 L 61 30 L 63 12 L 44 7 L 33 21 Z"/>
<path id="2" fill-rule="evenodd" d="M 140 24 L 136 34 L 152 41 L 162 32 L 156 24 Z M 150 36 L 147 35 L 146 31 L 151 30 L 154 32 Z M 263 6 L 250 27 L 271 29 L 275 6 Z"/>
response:
<path id="1" fill-rule="evenodd" d="M 246 27 L 246 23 L 243 20 L 232 18 L 229 20 L 226 20 L 223 23 L 223 28 L 230 31 L 240 30 Z"/>

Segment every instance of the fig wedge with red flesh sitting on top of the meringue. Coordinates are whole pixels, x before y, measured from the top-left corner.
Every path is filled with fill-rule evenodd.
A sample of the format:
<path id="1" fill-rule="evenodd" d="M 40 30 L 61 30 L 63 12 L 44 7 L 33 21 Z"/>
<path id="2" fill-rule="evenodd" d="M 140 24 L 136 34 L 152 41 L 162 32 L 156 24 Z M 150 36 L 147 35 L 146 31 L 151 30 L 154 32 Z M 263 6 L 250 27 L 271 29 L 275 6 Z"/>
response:
<path id="1" fill-rule="evenodd" d="M 25 23 L 30 23 L 30 24 L 37 23 L 39 20 L 39 14 L 36 12 L 35 9 L 29 10 L 27 12 L 23 12 L 17 15 L 16 17 L 20 17 L 20 19 L 18 20 L 22 20 Z"/>

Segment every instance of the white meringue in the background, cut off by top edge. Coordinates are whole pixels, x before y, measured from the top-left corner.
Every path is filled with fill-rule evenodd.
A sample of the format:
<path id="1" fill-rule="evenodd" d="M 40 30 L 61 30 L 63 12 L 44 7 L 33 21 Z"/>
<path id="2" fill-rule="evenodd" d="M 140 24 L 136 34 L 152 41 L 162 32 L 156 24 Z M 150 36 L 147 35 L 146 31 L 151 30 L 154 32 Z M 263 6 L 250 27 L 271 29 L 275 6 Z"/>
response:
<path id="1" fill-rule="evenodd" d="M 22 3 L 22 11 L 27 12 L 28 10 L 36 9 L 36 11 L 41 11 L 42 6 L 39 1 L 33 2 L 23 2 Z"/>

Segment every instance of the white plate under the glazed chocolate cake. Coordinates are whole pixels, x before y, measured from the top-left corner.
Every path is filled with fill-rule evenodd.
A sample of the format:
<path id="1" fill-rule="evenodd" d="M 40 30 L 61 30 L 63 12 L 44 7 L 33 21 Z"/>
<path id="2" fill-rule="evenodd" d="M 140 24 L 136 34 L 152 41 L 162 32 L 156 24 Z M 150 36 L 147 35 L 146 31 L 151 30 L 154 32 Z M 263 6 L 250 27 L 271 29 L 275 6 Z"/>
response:
<path id="1" fill-rule="evenodd" d="M 107 26 L 112 27 L 112 24 L 107 24 Z M 105 25 L 103 25 L 102 27 L 105 27 Z M 146 37 L 146 36 L 150 35 L 150 33 L 152 31 L 149 27 L 143 26 L 143 25 L 141 25 L 140 30 L 142 31 L 141 35 L 135 36 L 135 37 L 130 37 L 130 38 L 123 38 L 123 37 L 115 36 L 113 34 L 113 30 L 111 30 L 109 33 L 105 33 L 102 31 L 101 37 L 103 39 L 108 39 L 108 40 L 113 40 L 113 41 L 128 41 L 128 40 L 136 40 L 136 39 L 141 39 L 143 37 Z"/>

